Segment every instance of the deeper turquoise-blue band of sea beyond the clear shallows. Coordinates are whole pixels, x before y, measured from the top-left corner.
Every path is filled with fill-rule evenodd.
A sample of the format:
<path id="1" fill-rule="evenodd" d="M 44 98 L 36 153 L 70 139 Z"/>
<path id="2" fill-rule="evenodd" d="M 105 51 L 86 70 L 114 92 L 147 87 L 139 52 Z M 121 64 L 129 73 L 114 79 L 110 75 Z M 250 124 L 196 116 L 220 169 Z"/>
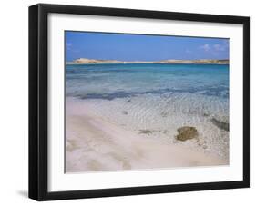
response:
<path id="1" fill-rule="evenodd" d="M 75 64 L 66 67 L 67 96 L 113 100 L 152 93 L 200 93 L 229 99 L 229 65 Z"/>

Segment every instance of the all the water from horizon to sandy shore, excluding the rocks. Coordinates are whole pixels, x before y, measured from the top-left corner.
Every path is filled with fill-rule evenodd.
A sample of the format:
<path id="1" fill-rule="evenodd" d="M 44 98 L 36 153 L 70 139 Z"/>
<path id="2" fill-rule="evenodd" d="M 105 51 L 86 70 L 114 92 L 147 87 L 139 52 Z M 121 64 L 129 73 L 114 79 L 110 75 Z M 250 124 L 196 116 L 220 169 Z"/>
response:
<path id="1" fill-rule="evenodd" d="M 194 126 L 199 141 L 179 143 L 229 159 L 229 132 L 213 120 L 229 123 L 229 65 L 66 65 L 66 95 L 124 129 L 150 130 L 145 137 L 172 143 Z"/>

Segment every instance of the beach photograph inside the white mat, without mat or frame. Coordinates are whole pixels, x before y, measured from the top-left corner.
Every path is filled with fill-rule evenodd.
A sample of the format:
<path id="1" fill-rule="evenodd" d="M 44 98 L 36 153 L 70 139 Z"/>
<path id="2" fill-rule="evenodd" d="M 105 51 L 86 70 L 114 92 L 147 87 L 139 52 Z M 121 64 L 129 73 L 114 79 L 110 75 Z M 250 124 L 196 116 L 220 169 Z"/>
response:
<path id="1" fill-rule="evenodd" d="M 65 172 L 228 166 L 229 45 L 65 31 Z"/>

